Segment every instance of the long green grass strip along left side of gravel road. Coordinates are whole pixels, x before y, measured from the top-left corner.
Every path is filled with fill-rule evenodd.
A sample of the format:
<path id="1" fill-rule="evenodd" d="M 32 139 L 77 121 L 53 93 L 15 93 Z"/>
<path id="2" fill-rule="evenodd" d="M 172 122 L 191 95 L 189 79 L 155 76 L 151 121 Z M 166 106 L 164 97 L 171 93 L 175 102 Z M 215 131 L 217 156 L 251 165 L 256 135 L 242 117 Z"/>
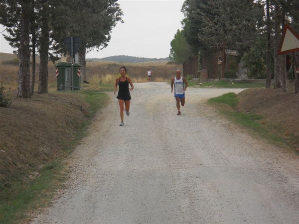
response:
<path id="1" fill-rule="evenodd" d="M 62 159 L 85 136 L 87 126 L 92 122 L 91 118 L 104 107 L 108 99 L 106 94 L 95 91 L 80 91 L 74 94 L 82 94 L 89 103 L 89 111 L 86 113 L 89 119 L 80 123 L 77 134 L 71 141 L 65 142 L 61 158 L 45 164 L 42 169 L 36 167 L 32 179 L 15 180 L 10 188 L 0 192 L 0 224 L 23 223 L 27 219 L 26 214 L 49 205 L 53 193 L 63 187 L 67 174 L 63 171 Z"/>

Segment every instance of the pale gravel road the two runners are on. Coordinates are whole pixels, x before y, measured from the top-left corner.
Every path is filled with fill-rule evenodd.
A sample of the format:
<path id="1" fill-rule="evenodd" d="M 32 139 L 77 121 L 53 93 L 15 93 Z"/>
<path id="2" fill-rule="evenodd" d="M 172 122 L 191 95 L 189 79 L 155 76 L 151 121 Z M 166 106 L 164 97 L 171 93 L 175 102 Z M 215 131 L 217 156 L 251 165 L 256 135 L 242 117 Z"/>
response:
<path id="1" fill-rule="evenodd" d="M 299 222 L 299 158 L 216 115 L 188 88 L 176 115 L 169 84 L 135 84 L 125 126 L 111 103 L 69 163 L 72 178 L 35 224 Z"/>

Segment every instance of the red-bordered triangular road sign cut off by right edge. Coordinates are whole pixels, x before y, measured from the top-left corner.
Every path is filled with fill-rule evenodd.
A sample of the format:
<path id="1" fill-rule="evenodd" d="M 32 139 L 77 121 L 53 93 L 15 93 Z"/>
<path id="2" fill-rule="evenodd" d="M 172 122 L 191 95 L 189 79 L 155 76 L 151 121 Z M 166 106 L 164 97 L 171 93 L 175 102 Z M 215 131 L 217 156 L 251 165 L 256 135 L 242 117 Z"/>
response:
<path id="1" fill-rule="evenodd" d="M 299 51 L 299 35 L 288 24 L 285 24 L 283 37 L 277 54 Z"/>

